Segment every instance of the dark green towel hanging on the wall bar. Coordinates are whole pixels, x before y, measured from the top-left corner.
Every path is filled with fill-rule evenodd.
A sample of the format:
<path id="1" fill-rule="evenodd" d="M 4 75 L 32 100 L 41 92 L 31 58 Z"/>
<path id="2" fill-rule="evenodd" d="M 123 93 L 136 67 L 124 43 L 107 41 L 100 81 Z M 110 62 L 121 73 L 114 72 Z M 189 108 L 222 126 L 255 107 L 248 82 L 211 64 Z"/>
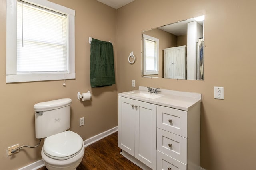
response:
<path id="1" fill-rule="evenodd" d="M 112 43 L 92 39 L 90 60 L 91 87 L 112 86 L 116 83 Z"/>

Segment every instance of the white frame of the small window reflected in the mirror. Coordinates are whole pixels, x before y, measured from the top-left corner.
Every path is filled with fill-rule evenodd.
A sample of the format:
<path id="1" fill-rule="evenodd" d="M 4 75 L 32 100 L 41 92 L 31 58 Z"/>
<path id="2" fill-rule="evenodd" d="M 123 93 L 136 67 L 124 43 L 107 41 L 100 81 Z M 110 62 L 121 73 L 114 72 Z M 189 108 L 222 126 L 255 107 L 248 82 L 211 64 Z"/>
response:
<path id="1" fill-rule="evenodd" d="M 155 53 L 155 69 L 154 70 L 146 70 L 146 40 L 156 42 L 156 53 Z M 143 75 L 156 75 L 159 74 L 159 39 L 155 37 L 151 37 L 149 35 L 143 34 Z"/>

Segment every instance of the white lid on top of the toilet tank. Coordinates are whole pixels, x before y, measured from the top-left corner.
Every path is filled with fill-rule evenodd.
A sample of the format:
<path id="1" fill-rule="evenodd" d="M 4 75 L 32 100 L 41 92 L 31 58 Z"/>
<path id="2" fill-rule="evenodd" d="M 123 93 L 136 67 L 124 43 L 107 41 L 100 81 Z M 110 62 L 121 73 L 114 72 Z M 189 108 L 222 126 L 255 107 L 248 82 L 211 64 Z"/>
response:
<path id="1" fill-rule="evenodd" d="M 48 111 L 53 109 L 59 109 L 65 106 L 69 106 L 72 100 L 69 98 L 51 100 L 47 102 L 40 102 L 34 105 L 35 111 Z"/>

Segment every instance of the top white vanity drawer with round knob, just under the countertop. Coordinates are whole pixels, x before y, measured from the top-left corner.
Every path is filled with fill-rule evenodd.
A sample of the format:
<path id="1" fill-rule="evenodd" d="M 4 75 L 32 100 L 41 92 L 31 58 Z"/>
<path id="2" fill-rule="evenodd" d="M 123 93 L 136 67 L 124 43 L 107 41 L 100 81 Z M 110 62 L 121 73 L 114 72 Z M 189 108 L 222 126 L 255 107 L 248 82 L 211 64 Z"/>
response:
<path id="1" fill-rule="evenodd" d="M 186 111 L 157 106 L 157 127 L 187 138 L 188 113 Z"/>

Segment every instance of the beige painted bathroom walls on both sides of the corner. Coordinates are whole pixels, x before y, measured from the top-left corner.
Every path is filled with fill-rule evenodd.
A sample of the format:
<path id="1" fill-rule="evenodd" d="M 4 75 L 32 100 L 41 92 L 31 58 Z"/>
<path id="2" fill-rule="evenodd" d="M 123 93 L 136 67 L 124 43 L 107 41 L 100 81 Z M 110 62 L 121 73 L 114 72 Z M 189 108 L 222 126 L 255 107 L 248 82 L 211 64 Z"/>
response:
<path id="1" fill-rule="evenodd" d="M 17 169 L 41 159 L 42 145 L 6 156 L 8 146 L 38 142 L 33 111 L 37 102 L 71 98 L 71 130 L 85 140 L 118 124 L 117 93 L 138 86 L 201 93 L 201 166 L 207 170 L 255 168 L 255 1 L 135 0 L 117 11 L 95 0 L 52 2 L 76 10 L 76 80 L 67 80 L 66 88 L 63 81 L 6 84 L 6 1 L 0 0 L 0 169 Z M 141 78 L 141 31 L 201 14 L 206 18 L 205 80 Z M 89 36 L 113 42 L 117 85 L 90 88 Z M 134 64 L 127 61 L 131 51 Z M 136 88 L 131 80 L 136 80 Z M 214 99 L 214 86 L 224 86 L 225 100 Z M 92 100 L 78 101 L 77 92 L 87 90 Z M 83 127 L 78 125 L 80 117 L 85 117 Z"/>

